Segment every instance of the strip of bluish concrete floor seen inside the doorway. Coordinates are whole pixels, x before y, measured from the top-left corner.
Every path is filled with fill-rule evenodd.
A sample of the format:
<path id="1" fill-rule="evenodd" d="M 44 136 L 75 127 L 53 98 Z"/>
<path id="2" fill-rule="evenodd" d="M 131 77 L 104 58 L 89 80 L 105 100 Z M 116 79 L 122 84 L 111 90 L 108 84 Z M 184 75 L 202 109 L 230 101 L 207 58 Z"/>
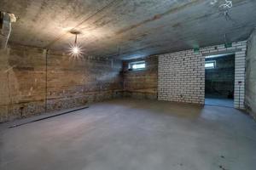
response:
<path id="1" fill-rule="evenodd" d="M 224 106 L 224 107 L 234 107 L 234 99 L 213 99 L 206 98 L 205 105 L 215 105 L 215 106 Z"/>

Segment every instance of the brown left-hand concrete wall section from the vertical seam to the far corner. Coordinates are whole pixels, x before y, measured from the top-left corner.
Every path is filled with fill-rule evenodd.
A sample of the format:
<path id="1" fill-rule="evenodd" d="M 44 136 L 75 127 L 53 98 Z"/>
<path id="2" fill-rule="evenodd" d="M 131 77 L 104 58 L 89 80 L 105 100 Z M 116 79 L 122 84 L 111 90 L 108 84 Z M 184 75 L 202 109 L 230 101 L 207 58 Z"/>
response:
<path id="1" fill-rule="evenodd" d="M 122 90 L 121 61 L 49 55 L 48 62 L 48 111 L 112 99 Z"/>

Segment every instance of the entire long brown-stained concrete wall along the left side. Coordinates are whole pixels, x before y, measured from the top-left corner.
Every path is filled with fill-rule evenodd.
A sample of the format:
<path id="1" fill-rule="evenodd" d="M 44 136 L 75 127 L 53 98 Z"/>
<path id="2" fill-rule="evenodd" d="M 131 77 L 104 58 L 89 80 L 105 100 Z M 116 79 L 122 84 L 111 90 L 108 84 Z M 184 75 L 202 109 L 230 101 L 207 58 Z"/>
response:
<path id="1" fill-rule="evenodd" d="M 49 54 L 46 83 L 45 56 L 18 46 L 0 52 L 0 122 L 111 99 L 122 89 L 121 61 Z"/>

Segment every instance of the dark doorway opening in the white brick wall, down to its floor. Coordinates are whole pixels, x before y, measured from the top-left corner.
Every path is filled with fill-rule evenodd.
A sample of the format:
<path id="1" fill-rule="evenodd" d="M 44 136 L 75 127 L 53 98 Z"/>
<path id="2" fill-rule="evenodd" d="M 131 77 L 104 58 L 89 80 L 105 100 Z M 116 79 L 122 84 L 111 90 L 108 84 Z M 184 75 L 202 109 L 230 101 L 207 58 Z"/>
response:
<path id="1" fill-rule="evenodd" d="M 205 105 L 234 107 L 235 54 L 206 57 Z"/>

